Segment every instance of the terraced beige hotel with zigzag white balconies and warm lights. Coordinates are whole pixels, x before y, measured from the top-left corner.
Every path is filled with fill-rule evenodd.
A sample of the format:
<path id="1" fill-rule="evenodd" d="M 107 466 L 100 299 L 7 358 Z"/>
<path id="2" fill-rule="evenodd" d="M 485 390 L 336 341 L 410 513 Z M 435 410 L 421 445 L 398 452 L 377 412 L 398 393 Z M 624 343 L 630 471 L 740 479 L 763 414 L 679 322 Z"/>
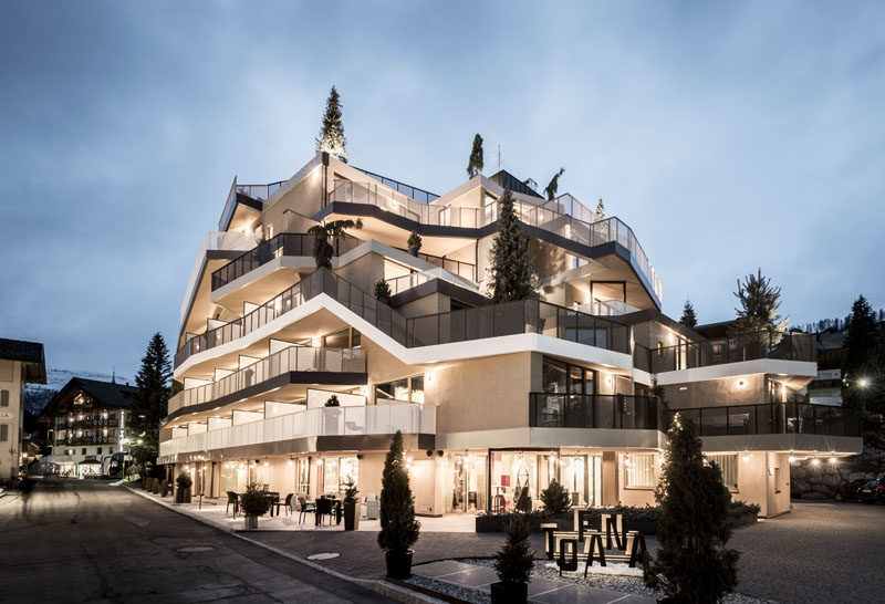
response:
<path id="1" fill-rule="evenodd" d="M 485 295 L 504 189 L 538 300 Z M 341 219 L 362 228 L 316 269 L 308 229 Z M 235 178 L 181 305 L 184 389 L 159 462 L 206 496 L 259 481 L 315 497 L 353 478 L 371 498 L 400 430 L 421 514 L 512 509 L 520 496 L 538 508 L 551 479 L 575 506 L 644 506 L 679 410 L 733 499 L 773 516 L 789 511 L 791 460 L 861 450 L 857 418 L 808 404 L 814 335 L 704 339 L 662 314 L 662 295 L 624 221 L 506 171 L 441 196 L 326 154 L 284 181 Z"/>

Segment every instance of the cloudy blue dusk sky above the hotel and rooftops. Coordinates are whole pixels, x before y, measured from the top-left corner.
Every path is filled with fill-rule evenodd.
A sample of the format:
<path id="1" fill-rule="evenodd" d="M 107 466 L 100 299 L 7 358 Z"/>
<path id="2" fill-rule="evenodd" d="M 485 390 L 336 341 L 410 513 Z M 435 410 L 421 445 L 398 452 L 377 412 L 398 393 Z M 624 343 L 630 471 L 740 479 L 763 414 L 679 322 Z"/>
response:
<path id="1" fill-rule="evenodd" d="M 231 179 L 351 163 L 441 194 L 475 133 L 629 225 L 700 322 L 761 267 L 792 324 L 885 305 L 885 3 L 33 2 L 0 17 L 0 336 L 134 376 Z"/>

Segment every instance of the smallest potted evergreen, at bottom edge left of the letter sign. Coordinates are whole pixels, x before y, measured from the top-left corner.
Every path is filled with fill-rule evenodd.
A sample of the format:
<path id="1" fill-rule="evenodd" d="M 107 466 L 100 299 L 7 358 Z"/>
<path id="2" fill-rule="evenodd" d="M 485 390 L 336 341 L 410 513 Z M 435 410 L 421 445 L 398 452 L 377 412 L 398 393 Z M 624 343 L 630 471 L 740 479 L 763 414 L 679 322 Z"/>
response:
<path id="1" fill-rule="evenodd" d="M 500 581 L 490 585 L 493 604 L 528 601 L 529 573 L 534 564 L 534 552 L 529 551 L 531 530 L 529 521 L 520 513 L 514 513 L 504 525 L 507 542 L 494 556 Z"/>

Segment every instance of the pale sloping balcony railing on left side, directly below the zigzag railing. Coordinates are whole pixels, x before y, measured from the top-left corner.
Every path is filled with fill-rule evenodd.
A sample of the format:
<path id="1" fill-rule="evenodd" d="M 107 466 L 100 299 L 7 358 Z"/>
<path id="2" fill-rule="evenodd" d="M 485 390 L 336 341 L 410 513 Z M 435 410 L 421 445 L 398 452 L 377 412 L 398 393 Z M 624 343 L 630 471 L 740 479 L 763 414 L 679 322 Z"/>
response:
<path id="1" fill-rule="evenodd" d="M 222 377 L 218 382 L 179 392 L 169 398 L 168 415 L 191 405 L 220 402 L 225 397 L 233 397 L 247 388 L 258 387 L 290 372 L 309 373 L 311 383 L 319 379 L 317 373 L 321 372 L 362 375 L 362 381 L 356 379 L 354 383 L 364 383 L 366 351 L 362 348 L 290 346 Z M 271 384 L 267 384 L 267 386 L 275 387 Z"/>

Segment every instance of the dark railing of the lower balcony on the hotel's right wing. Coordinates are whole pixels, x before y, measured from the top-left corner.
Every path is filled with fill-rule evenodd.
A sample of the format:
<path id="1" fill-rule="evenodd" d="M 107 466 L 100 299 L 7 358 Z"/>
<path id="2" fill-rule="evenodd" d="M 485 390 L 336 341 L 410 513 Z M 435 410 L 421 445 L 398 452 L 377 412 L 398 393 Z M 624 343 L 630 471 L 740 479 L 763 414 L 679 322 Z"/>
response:
<path id="1" fill-rule="evenodd" d="M 861 414 L 856 409 L 773 403 L 676 409 L 673 415 L 690 417 L 700 436 L 739 436 L 763 434 L 812 434 L 822 436 L 861 436 Z"/>

